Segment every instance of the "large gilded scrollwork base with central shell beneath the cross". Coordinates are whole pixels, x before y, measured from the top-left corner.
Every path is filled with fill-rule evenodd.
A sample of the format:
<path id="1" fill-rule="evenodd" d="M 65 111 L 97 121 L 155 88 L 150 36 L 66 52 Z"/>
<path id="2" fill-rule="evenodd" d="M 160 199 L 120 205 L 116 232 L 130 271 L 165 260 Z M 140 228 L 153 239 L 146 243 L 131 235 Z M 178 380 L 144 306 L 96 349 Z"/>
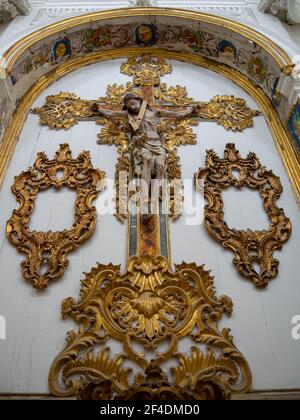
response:
<path id="1" fill-rule="evenodd" d="M 248 364 L 229 330 L 218 328 L 231 311 L 231 300 L 216 296 L 203 266 L 182 263 L 172 272 L 164 257 L 149 255 L 131 257 L 124 274 L 120 266 L 99 264 L 82 281 L 80 301 L 62 304 L 63 318 L 71 317 L 78 330 L 68 334 L 52 364 L 50 390 L 79 399 L 129 400 L 226 399 L 246 392 Z M 178 349 L 186 336 L 194 342 L 190 354 Z M 122 345 L 121 353 L 110 350 L 110 339 Z M 128 361 L 135 366 L 133 379 Z M 163 371 L 166 361 L 172 379 Z"/>

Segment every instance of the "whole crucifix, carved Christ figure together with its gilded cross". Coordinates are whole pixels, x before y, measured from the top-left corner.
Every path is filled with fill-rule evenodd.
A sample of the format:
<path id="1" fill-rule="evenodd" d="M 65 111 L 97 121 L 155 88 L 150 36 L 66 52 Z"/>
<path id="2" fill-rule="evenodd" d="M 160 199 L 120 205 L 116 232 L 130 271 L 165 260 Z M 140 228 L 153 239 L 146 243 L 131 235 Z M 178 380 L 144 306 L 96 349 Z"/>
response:
<path id="1" fill-rule="evenodd" d="M 161 77 L 171 73 L 164 59 L 142 55 L 129 58 L 121 72 L 133 76 L 124 85 L 109 85 L 105 97 L 82 100 L 70 93 L 49 96 L 46 104 L 34 109 L 41 124 L 53 129 L 68 129 L 80 120 L 95 120 L 103 128 L 99 144 L 118 147 L 116 164 L 116 217 L 124 222 L 129 215 L 128 257 L 163 255 L 168 259 L 168 217 L 180 216 L 182 196 L 169 188 L 166 195 L 161 181 L 181 182 L 177 147 L 195 144 L 192 127 L 200 121 L 215 121 L 227 130 L 242 131 L 253 125 L 259 111 L 247 107 L 245 100 L 233 96 L 216 96 L 209 102 L 188 97 L 185 87 L 169 87 Z M 120 173 L 128 174 L 126 180 Z M 128 187 L 139 181 L 139 205 L 131 211 Z M 153 182 L 155 181 L 155 182 Z M 177 184 L 178 185 L 178 184 Z M 168 209 L 166 199 L 168 196 Z M 153 206 L 154 203 L 154 206 Z M 125 211 L 124 211 L 125 206 Z"/>

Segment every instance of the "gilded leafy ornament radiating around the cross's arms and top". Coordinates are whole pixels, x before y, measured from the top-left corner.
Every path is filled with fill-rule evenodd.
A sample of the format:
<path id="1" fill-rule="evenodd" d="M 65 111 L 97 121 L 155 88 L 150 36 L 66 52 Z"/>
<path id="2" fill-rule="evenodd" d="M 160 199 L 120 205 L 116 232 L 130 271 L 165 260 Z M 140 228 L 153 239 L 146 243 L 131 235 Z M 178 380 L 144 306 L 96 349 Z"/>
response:
<path id="1" fill-rule="evenodd" d="M 247 107 L 244 99 L 233 96 L 216 96 L 209 102 L 195 101 L 188 96 L 185 87 L 168 86 L 161 83 L 161 77 L 172 72 L 172 66 L 160 57 L 142 55 L 131 57 L 121 66 L 121 72 L 133 77 L 132 82 L 126 85 L 112 84 L 107 87 L 106 96 L 99 98 L 97 104 L 102 110 L 119 112 L 123 108 L 123 100 L 128 93 L 134 93 L 147 101 L 149 106 L 155 111 L 172 111 L 182 113 L 186 107 L 197 106 L 194 114 L 186 118 L 162 117 L 160 118 L 159 131 L 164 141 L 167 154 L 171 154 L 171 159 L 166 158 L 166 162 L 172 161 L 172 169 L 166 167 L 168 179 L 174 179 L 175 173 L 180 173 L 180 161 L 174 159 L 177 154 L 177 147 L 181 145 L 195 144 L 196 134 L 193 127 L 200 121 L 215 121 L 221 124 L 226 130 L 243 131 L 253 125 L 253 118 L 260 115 L 259 111 Z M 102 125 L 98 135 L 98 143 L 106 145 L 115 145 L 118 148 L 119 155 L 130 161 L 130 136 L 132 128 L 124 118 L 108 117 L 99 115 L 91 111 L 91 105 L 94 100 L 83 100 L 70 93 L 60 93 L 46 98 L 46 104 L 41 108 L 33 110 L 40 116 L 41 124 L 48 125 L 51 128 L 68 129 L 78 121 L 96 120 L 96 123 Z M 165 112 L 166 113 L 166 112 Z M 175 165 L 176 163 L 176 165 Z M 120 164 L 116 164 L 115 185 L 116 194 L 120 197 L 118 179 L 120 177 Z M 128 182 L 130 180 L 128 174 Z M 116 200 L 116 217 L 121 221 L 127 218 L 121 209 L 127 205 L 128 196 Z M 176 219 L 180 213 L 176 213 L 178 206 L 174 200 L 170 201 L 170 217 Z"/>

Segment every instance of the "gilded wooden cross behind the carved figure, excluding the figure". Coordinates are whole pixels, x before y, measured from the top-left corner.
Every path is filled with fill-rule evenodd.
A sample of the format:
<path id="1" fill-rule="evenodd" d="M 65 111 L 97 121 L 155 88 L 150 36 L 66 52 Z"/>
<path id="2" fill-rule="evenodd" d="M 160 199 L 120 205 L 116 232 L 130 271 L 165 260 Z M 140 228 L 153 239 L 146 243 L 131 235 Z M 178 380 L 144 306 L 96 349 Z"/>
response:
<path id="1" fill-rule="evenodd" d="M 40 116 L 41 124 L 53 129 L 68 129 L 83 120 L 95 120 L 97 124 L 103 126 L 98 135 L 98 143 L 114 144 L 119 152 L 115 174 L 117 191 L 115 215 L 122 222 L 127 218 L 127 212 L 123 211 L 124 197 L 120 197 L 119 194 L 122 187 L 119 174 L 121 171 L 126 171 L 128 174 L 132 172 L 128 153 L 131 128 L 124 119 L 99 118 L 91 110 L 93 103 L 97 102 L 106 110 L 120 111 L 123 107 L 124 96 L 132 92 L 147 101 L 153 109 L 181 111 L 187 106 L 199 106 L 199 110 L 193 117 L 182 120 L 172 118 L 161 120 L 160 129 L 167 149 L 166 178 L 168 181 L 181 179 L 177 147 L 196 143 L 196 135 L 192 127 L 198 125 L 201 120 L 215 121 L 227 130 L 242 131 L 251 127 L 253 117 L 260 114 L 259 111 L 248 108 L 244 99 L 233 96 L 216 96 L 209 102 L 195 101 L 188 97 L 185 87 L 179 85 L 169 87 L 161 83 L 161 77 L 171 71 L 171 65 L 162 58 L 149 55 L 129 58 L 121 67 L 122 73 L 133 77 L 133 81 L 127 83 L 126 86 L 109 85 L 106 96 L 96 101 L 82 100 L 70 93 L 59 93 L 48 96 L 43 107 L 33 110 L 33 113 Z M 169 216 L 172 219 L 180 216 L 180 212 L 176 209 L 175 193 L 171 190 Z M 168 215 L 163 214 L 162 211 L 159 214 L 150 215 L 141 215 L 139 212 L 134 215 L 130 211 L 128 214 L 130 225 L 128 257 L 149 254 L 151 256 L 163 255 L 168 258 Z"/>

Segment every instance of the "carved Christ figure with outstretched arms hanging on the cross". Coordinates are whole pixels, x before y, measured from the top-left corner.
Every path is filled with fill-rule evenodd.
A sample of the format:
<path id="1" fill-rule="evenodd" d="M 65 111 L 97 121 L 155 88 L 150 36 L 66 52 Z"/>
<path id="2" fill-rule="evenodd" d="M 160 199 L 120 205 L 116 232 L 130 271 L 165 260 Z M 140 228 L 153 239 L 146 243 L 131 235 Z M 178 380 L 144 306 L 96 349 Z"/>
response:
<path id="1" fill-rule="evenodd" d="M 186 118 L 196 112 L 197 107 L 190 106 L 184 111 L 154 110 L 140 96 L 128 93 L 124 97 L 122 111 L 111 111 L 94 103 L 92 110 L 106 117 L 118 117 L 128 120 L 132 128 L 131 151 L 134 162 L 134 173 L 140 179 L 142 187 L 142 202 L 150 202 L 151 179 L 158 186 L 151 192 L 156 199 L 159 195 L 159 185 L 164 180 L 166 166 L 166 148 L 162 135 L 159 133 L 159 118 Z"/>

